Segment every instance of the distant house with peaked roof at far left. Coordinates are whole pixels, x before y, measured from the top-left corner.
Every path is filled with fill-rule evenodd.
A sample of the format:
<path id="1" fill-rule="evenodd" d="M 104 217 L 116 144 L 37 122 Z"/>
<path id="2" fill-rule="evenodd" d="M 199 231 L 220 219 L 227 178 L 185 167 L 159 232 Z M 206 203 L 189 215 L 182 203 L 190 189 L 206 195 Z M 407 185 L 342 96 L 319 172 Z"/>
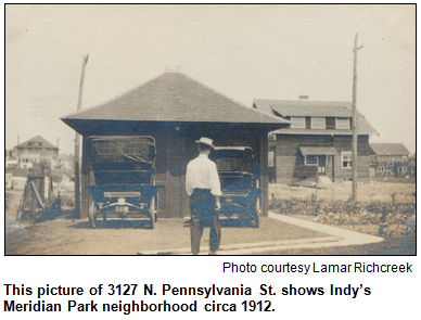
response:
<path id="1" fill-rule="evenodd" d="M 41 159 L 49 161 L 52 167 L 59 164 L 59 148 L 40 136 L 16 145 L 13 150 L 15 150 L 17 168 L 31 168 Z"/>

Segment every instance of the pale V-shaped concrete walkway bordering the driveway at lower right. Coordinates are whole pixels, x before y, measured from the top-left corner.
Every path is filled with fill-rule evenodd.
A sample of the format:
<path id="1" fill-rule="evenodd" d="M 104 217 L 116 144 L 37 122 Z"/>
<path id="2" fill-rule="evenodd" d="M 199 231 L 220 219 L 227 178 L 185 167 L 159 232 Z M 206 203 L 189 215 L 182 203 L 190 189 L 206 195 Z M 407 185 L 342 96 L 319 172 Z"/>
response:
<path id="1" fill-rule="evenodd" d="M 299 226 L 302 228 L 315 230 L 331 234 L 327 238 L 312 238 L 302 240 L 284 240 L 276 242 L 261 242 L 261 243 L 244 243 L 235 245 L 221 245 L 218 251 L 218 255 L 253 255 L 257 253 L 265 253 L 268 251 L 280 251 L 290 248 L 303 248 L 303 247 L 322 247 L 322 246 L 345 246 L 345 245 L 360 245 L 377 243 L 383 241 L 380 236 L 374 236 L 366 233 L 349 231 L 332 226 L 326 226 L 322 223 L 311 222 L 303 219 L 278 215 L 269 212 L 269 218 L 288 222 L 291 225 Z M 201 247 L 201 255 L 207 255 L 208 247 Z M 175 248 L 166 251 L 148 251 L 138 253 L 138 255 L 190 255 L 191 248 Z"/>

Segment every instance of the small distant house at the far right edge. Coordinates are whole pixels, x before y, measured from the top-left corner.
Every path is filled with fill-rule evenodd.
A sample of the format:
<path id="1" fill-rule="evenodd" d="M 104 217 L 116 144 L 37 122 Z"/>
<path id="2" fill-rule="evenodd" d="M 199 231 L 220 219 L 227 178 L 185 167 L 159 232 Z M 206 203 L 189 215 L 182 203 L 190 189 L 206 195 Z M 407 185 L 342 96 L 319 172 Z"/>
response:
<path id="1" fill-rule="evenodd" d="M 374 151 L 370 177 L 405 177 L 410 174 L 410 152 L 404 143 L 370 143 L 370 146 Z"/>

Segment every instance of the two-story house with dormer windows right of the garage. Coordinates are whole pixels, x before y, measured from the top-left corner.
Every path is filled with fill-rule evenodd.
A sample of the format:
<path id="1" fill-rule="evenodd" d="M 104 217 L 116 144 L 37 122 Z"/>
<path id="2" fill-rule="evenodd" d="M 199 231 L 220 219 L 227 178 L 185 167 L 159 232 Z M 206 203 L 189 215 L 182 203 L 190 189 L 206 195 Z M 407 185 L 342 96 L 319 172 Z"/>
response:
<path id="1" fill-rule="evenodd" d="M 277 183 L 350 181 L 353 167 L 352 103 L 335 101 L 255 99 L 253 107 L 291 121 L 272 131 Z M 358 113 L 358 177 L 369 177 L 373 151 L 371 135 L 378 133 Z"/>

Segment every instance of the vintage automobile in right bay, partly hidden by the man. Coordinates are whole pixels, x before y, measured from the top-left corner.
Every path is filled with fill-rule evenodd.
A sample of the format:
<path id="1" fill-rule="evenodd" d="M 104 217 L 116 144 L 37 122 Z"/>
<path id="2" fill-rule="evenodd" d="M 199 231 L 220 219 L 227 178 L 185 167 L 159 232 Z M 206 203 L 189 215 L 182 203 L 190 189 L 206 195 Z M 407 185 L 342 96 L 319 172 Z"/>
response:
<path id="1" fill-rule="evenodd" d="M 220 213 L 228 218 L 247 219 L 258 228 L 261 190 L 252 174 L 253 156 L 250 146 L 218 146 L 210 153 L 221 183 Z"/>

